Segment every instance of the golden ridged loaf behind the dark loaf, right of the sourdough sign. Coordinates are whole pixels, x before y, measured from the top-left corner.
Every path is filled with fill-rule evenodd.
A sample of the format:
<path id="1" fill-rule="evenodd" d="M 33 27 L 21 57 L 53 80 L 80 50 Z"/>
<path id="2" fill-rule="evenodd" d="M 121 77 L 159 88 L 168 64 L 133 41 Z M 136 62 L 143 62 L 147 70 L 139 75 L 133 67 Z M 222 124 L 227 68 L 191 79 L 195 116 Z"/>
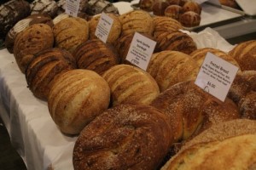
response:
<path id="1" fill-rule="evenodd" d="M 167 16 L 154 16 L 154 37 L 158 37 L 161 33 L 177 31 L 183 29 L 183 26 L 177 20 Z"/>

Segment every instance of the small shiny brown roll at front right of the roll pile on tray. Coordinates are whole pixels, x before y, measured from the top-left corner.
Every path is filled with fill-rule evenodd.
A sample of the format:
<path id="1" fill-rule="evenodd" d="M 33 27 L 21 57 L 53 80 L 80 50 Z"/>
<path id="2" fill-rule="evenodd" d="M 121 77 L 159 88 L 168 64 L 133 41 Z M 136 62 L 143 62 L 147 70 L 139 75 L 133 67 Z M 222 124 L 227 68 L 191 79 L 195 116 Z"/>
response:
<path id="1" fill-rule="evenodd" d="M 179 16 L 179 21 L 185 27 L 199 26 L 201 22 L 201 15 L 194 11 L 187 11 Z"/>

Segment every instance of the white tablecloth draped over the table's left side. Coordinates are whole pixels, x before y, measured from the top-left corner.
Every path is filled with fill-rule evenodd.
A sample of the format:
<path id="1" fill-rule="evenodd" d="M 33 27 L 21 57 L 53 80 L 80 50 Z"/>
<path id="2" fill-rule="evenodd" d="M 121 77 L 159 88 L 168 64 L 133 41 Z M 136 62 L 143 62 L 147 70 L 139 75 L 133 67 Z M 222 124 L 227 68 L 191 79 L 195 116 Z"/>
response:
<path id="1" fill-rule="evenodd" d="M 77 137 L 62 134 L 47 103 L 33 96 L 13 54 L 0 50 L 0 116 L 28 170 L 72 170 Z"/>

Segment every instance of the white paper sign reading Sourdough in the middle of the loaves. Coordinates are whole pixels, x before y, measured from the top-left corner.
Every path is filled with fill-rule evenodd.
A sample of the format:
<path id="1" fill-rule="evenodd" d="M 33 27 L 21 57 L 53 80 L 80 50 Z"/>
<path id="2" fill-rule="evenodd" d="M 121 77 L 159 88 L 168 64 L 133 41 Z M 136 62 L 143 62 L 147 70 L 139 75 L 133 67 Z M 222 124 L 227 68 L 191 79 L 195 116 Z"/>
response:
<path id="1" fill-rule="evenodd" d="M 149 60 L 154 52 L 155 44 L 156 42 L 153 40 L 136 32 L 131 41 L 126 59 L 133 65 L 137 65 L 146 71 Z"/>

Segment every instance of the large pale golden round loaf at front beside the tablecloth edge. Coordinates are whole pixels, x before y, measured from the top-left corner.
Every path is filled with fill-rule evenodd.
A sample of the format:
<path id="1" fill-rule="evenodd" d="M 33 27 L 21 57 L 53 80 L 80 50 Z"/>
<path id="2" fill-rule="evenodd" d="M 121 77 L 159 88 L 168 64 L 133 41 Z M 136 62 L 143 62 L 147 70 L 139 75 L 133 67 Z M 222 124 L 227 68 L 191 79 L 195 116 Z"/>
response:
<path id="1" fill-rule="evenodd" d="M 49 92 L 49 114 L 62 133 L 78 134 L 108 109 L 108 82 L 95 71 L 75 69 L 55 78 Z"/>

